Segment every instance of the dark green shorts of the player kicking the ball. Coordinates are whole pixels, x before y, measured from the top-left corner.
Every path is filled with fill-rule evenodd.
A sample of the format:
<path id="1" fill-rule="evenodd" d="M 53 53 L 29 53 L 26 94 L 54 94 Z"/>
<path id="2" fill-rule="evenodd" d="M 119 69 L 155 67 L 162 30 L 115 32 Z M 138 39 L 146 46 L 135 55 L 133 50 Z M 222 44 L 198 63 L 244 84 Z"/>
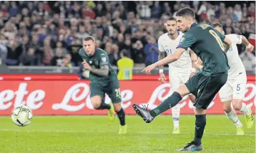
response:
<path id="1" fill-rule="evenodd" d="M 196 97 L 194 106 L 206 110 L 226 82 L 227 73 L 219 73 L 214 76 L 205 76 L 202 73 L 197 73 L 192 78 L 189 78 L 185 85 L 189 92 Z"/>

